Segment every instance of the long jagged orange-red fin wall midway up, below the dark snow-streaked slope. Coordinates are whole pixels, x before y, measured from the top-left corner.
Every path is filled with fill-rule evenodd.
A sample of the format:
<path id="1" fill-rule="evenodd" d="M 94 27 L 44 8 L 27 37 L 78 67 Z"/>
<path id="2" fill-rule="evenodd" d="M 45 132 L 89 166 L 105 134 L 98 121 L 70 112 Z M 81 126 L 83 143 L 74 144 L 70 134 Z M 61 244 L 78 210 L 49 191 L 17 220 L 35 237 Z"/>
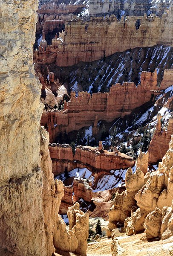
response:
<path id="1" fill-rule="evenodd" d="M 99 120 L 113 121 L 117 117 L 124 117 L 135 108 L 149 102 L 154 95 L 160 94 L 157 87 L 157 73 L 142 72 L 141 84 L 136 86 L 133 82 L 112 85 L 109 93 L 75 92 L 71 99 L 65 103 L 64 111 L 44 111 L 41 125 L 48 125 L 50 142 L 54 142 L 59 132 L 69 133 L 82 127 L 89 127 Z M 46 125 L 46 126 L 47 126 Z M 94 130 L 93 130 L 94 131 Z"/>

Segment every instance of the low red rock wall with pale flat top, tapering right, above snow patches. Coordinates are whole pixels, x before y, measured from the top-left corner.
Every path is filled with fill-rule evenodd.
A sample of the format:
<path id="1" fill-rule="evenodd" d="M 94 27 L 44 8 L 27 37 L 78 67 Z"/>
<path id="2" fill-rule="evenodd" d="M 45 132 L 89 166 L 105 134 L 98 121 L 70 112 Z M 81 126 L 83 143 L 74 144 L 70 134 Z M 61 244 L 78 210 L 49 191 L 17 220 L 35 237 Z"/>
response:
<path id="1" fill-rule="evenodd" d="M 49 146 L 49 151 L 54 175 L 64 173 L 65 168 L 71 171 L 75 168 L 87 167 L 91 171 L 109 172 L 112 169 L 132 167 L 135 163 L 133 157 L 123 153 L 99 151 L 98 148 L 89 146 L 78 146 L 74 155 L 69 145 L 52 144 Z"/>

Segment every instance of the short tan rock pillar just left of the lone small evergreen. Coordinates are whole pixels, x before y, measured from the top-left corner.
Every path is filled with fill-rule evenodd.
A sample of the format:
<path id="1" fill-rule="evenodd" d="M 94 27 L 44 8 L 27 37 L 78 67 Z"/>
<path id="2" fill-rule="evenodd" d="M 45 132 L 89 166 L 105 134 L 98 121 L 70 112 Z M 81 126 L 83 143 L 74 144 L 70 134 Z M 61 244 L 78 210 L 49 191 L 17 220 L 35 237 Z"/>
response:
<path id="1" fill-rule="evenodd" d="M 78 247 L 75 252 L 82 256 L 86 256 L 89 215 L 79 209 L 78 203 L 69 207 L 67 215 L 69 218 L 69 230 L 72 230 L 78 239 Z"/>

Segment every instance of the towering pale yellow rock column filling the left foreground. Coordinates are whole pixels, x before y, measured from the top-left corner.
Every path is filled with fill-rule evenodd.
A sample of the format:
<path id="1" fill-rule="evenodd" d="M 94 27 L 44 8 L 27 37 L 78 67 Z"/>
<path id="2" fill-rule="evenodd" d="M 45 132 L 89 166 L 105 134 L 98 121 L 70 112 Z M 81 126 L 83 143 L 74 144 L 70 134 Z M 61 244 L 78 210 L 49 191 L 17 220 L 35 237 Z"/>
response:
<path id="1" fill-rule="evenodd" d="M 45 230 L 43 182 L 49 181 L 43 181 L 40 168 L 43 107 L 32 53 L 37 6 L 37 0 L 0 0 L 0 252 L 4 256 L 51 256 L 54 251 Z"/>

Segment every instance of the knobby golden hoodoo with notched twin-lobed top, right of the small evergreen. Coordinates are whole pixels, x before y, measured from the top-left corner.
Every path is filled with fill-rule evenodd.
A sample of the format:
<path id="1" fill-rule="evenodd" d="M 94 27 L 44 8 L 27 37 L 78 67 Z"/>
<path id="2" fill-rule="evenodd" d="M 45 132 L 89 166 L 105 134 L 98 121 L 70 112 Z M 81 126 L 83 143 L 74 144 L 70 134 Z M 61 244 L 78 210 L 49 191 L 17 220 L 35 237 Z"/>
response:
<path id="1" fill-rule="evenodd" d="M 136 210 L 135 195 L 144 185 L 144 173 L 138 168 L 133 174 L 132 169 L 129 168 L 126 172 L 125 183 L 126 190 L 121 194 L 115 194 L 113 206 L 109 211 L 108 237 L 111 237 L 111 231 L 114 228 L 124 225 L 124 221 L 130 217 L 131 211 Z"/>

